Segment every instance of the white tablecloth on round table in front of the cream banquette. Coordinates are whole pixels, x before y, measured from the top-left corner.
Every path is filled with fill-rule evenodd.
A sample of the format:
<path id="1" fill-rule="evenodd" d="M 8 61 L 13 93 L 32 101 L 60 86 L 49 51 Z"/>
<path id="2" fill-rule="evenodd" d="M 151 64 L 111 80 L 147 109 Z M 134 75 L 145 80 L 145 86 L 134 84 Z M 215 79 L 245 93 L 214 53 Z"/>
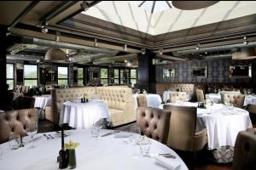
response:
<path id="1" fill-rule="evenodd" d="M 60 125 L 68 123 L 70 127 L 77 129 L 90 128 L 101 118 L 111 122 L 108 105 L 102 100 L 90 100 L 88 103 L 67 101 L 63 103 Z"/>

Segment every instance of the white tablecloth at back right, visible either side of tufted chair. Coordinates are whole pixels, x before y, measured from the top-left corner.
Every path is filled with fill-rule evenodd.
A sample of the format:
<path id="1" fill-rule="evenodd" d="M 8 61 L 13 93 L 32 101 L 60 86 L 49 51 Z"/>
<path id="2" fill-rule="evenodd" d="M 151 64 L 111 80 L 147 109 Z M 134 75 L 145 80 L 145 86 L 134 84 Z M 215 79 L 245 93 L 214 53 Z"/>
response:
<path id="1" fill-rule="evenodd" d="M 212 103 L 221 103 L 220 94 L 206 94 L 206 99 L 210 99 Z M 256 95 L 245 95 L 243 106 L 256 105 Z"/>

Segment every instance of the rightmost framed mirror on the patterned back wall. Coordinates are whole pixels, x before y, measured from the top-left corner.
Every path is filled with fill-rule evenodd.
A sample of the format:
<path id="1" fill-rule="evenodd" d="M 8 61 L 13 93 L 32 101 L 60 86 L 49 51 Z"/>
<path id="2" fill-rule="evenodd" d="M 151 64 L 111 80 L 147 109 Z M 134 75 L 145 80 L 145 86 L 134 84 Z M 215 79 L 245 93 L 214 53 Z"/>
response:
<path id="1" fill-rule="evenodd" d="M 252 65 L 230 65 L 230 77 L 252 77 Z"/>

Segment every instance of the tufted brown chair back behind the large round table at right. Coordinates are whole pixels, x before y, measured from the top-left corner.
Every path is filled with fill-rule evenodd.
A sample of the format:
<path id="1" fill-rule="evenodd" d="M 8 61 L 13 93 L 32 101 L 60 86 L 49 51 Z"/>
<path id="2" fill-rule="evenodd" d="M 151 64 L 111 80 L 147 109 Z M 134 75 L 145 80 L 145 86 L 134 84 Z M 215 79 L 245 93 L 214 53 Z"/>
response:
<path id="1" fill-rule="evenodd" d="M 224 94 L 224 103 L 231 103 L 239 108 L 243 108 L 244 99 L 242 94 Z"/>

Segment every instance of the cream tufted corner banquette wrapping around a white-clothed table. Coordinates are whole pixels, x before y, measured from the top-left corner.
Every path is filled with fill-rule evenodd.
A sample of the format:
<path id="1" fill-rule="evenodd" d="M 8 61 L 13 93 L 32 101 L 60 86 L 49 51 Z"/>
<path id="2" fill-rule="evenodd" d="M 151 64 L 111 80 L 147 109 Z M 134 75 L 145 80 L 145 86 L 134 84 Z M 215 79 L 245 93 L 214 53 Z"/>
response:
<path id="1" fill-rule="evenodd" d="M 113 127 L 136 120 L 136 104 L 132 99 L 131 88 L 125 87 L 83 87 L 55 88 L 52 91 L 54 122 L 59 123 L 62 105 L 65 101 L 79 99 L 84 94 L 99 96 L 107 101 Z"/>

